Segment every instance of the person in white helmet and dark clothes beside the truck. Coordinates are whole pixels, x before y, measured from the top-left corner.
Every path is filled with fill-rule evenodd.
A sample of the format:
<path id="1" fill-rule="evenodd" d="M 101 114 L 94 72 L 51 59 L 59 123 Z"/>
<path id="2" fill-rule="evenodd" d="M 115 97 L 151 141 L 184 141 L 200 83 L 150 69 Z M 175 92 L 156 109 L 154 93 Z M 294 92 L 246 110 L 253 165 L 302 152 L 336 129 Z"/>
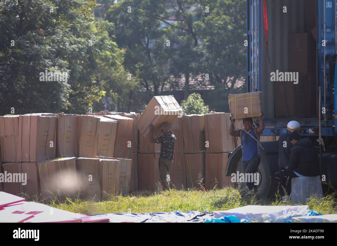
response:
<path id="1" fill-rule="evenodd" d="M 295 120 L 289 121 L 287 124 L 287 132 L 280 135 L 278 139 L 278 172 L 275 173 L 275 182 L 277 184 L 277 190 L 281 196 L 286 189 L 286 195 L 290 195 L 291 185 L 287 183 L 289 175 L 287 174 L 285 167 L 289 165 L 290 150 L 293 148 L 292 142 L 289 137 L 292 132 L 299 132 L 301 129 L 300 123 Z"/>

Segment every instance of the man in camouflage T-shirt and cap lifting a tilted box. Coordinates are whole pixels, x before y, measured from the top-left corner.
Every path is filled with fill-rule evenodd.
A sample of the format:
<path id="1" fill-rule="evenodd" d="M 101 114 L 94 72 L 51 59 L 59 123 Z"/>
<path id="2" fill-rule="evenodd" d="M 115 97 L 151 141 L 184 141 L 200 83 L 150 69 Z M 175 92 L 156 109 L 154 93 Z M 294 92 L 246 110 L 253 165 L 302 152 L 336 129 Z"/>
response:
<path id="1" fill-rule="evenodd" d="M 160 130 L 163 133 L 160 137 L 153 139 L 153 129 L 154 126 L 150 124 L 150 143 L 160 144 L 160 158 L 159 158 L 159 175 L 163 189 L 168 189 L 169 182 L 171 180 L 170 173 L 173 166 L 173 154 L 174 154 L 174 144 L 176 141 L 176 136 L 171 130 L 171 125 L 164 122 L 160 125 Z"/>

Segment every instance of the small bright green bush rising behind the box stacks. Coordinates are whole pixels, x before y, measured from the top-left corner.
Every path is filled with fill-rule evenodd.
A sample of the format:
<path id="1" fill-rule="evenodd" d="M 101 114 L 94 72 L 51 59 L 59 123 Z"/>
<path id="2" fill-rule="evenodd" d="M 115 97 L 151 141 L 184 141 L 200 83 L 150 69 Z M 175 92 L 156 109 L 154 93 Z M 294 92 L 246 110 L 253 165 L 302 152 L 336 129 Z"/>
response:
<path id="1" fill-rule="evenodd" d="M 208 105 L 205 105 L 205 102 L 199 93 L 189 94 L 187 100 L 182 100 L 180 105 L 184 115 L 209 113 Z"/>

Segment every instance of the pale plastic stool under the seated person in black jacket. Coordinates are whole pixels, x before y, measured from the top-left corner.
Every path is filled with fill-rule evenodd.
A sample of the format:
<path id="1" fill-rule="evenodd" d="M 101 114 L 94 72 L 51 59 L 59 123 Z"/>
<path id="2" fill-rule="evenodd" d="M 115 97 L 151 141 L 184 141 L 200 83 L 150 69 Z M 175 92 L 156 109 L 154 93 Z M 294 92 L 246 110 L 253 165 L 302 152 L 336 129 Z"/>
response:
<path id="1" fill-rule="evenodd" d="M 311 195 L 323 197 L 319 176 L 292 178 L 291 200 L 293 204 L 305 204 Z"/>

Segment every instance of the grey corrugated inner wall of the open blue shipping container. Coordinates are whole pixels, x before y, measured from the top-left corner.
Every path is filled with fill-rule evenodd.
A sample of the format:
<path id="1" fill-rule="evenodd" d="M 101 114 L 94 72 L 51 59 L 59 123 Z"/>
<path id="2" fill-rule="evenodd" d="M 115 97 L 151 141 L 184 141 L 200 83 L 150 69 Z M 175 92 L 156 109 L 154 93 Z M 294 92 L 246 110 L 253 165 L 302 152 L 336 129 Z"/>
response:
<path id="1" fill-rule="evenodd" d="M 270 81 L 270 73 L 279 71 L 289 71 L 289 33 L 306 32 L 306 21 L 304 12 L 305 0 L 267 0 L 268 18 L 268 54 L 266 50 L 265 28 L 262 25 L 261 43 L 261 80 L 263 93 L 264 118 L 275 118 L 274 110 L 274 90 Z M 283 12 L 283 6 L 287 7 L 287 12 Z M 263 6 L 261 4 L 261 13 Z M 262 19 L 263 22 L 263 19 Z"/>

